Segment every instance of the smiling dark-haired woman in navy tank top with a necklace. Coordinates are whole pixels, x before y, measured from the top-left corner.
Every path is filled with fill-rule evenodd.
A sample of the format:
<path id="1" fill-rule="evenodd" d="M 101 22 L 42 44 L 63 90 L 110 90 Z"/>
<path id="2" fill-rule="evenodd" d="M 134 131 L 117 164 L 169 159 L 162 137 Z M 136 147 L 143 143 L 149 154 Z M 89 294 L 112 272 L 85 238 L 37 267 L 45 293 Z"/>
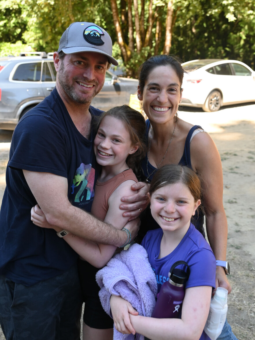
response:
<path id="1" fill-rule="evenodd" d="M 216 260 L 226 260 L 227 220 L 222 202 L 223 176 L 219 152 L 211 137 L 204 130 L 177 117 L 182 101 L 184 70 L 173 56 L 158 55 L 149 58 L 139 69 L 138 99 L 142 101 L 147 120 L 147 156 L 143 159 L 144 181 L 150 182 L 158 168 L 165 164 L 181 164 L 192 168 L 202 184 L 203 203 L 207 237 Z M 123 197 L 122 209 L 137 209 L 137 204 L 148 189 L 144 183 L 132 186 L 139 193 Z M 125 212 L 132 218 L 134 212 Z M 143 214 L 141 229 L 151 225 L 148 209 Z M 202 219 L 203 220 L 203 219 Z M 201 218 L 195 223 L 203 233 Z M 155 226 L 158 227 L 158 226 Z M 143 233 L 145 234 L 145 233 Z M 223 267 L 217 266 L 215 289 L 220 286 L 231 292 Z M 225 324 L 223 332 L 230 332 L 230 339 L 236 339 L 231 327 Z M 222 334 L 223 334 L 222 332 Z M 220 338 L 220 337 L 219 337 Z"/>

